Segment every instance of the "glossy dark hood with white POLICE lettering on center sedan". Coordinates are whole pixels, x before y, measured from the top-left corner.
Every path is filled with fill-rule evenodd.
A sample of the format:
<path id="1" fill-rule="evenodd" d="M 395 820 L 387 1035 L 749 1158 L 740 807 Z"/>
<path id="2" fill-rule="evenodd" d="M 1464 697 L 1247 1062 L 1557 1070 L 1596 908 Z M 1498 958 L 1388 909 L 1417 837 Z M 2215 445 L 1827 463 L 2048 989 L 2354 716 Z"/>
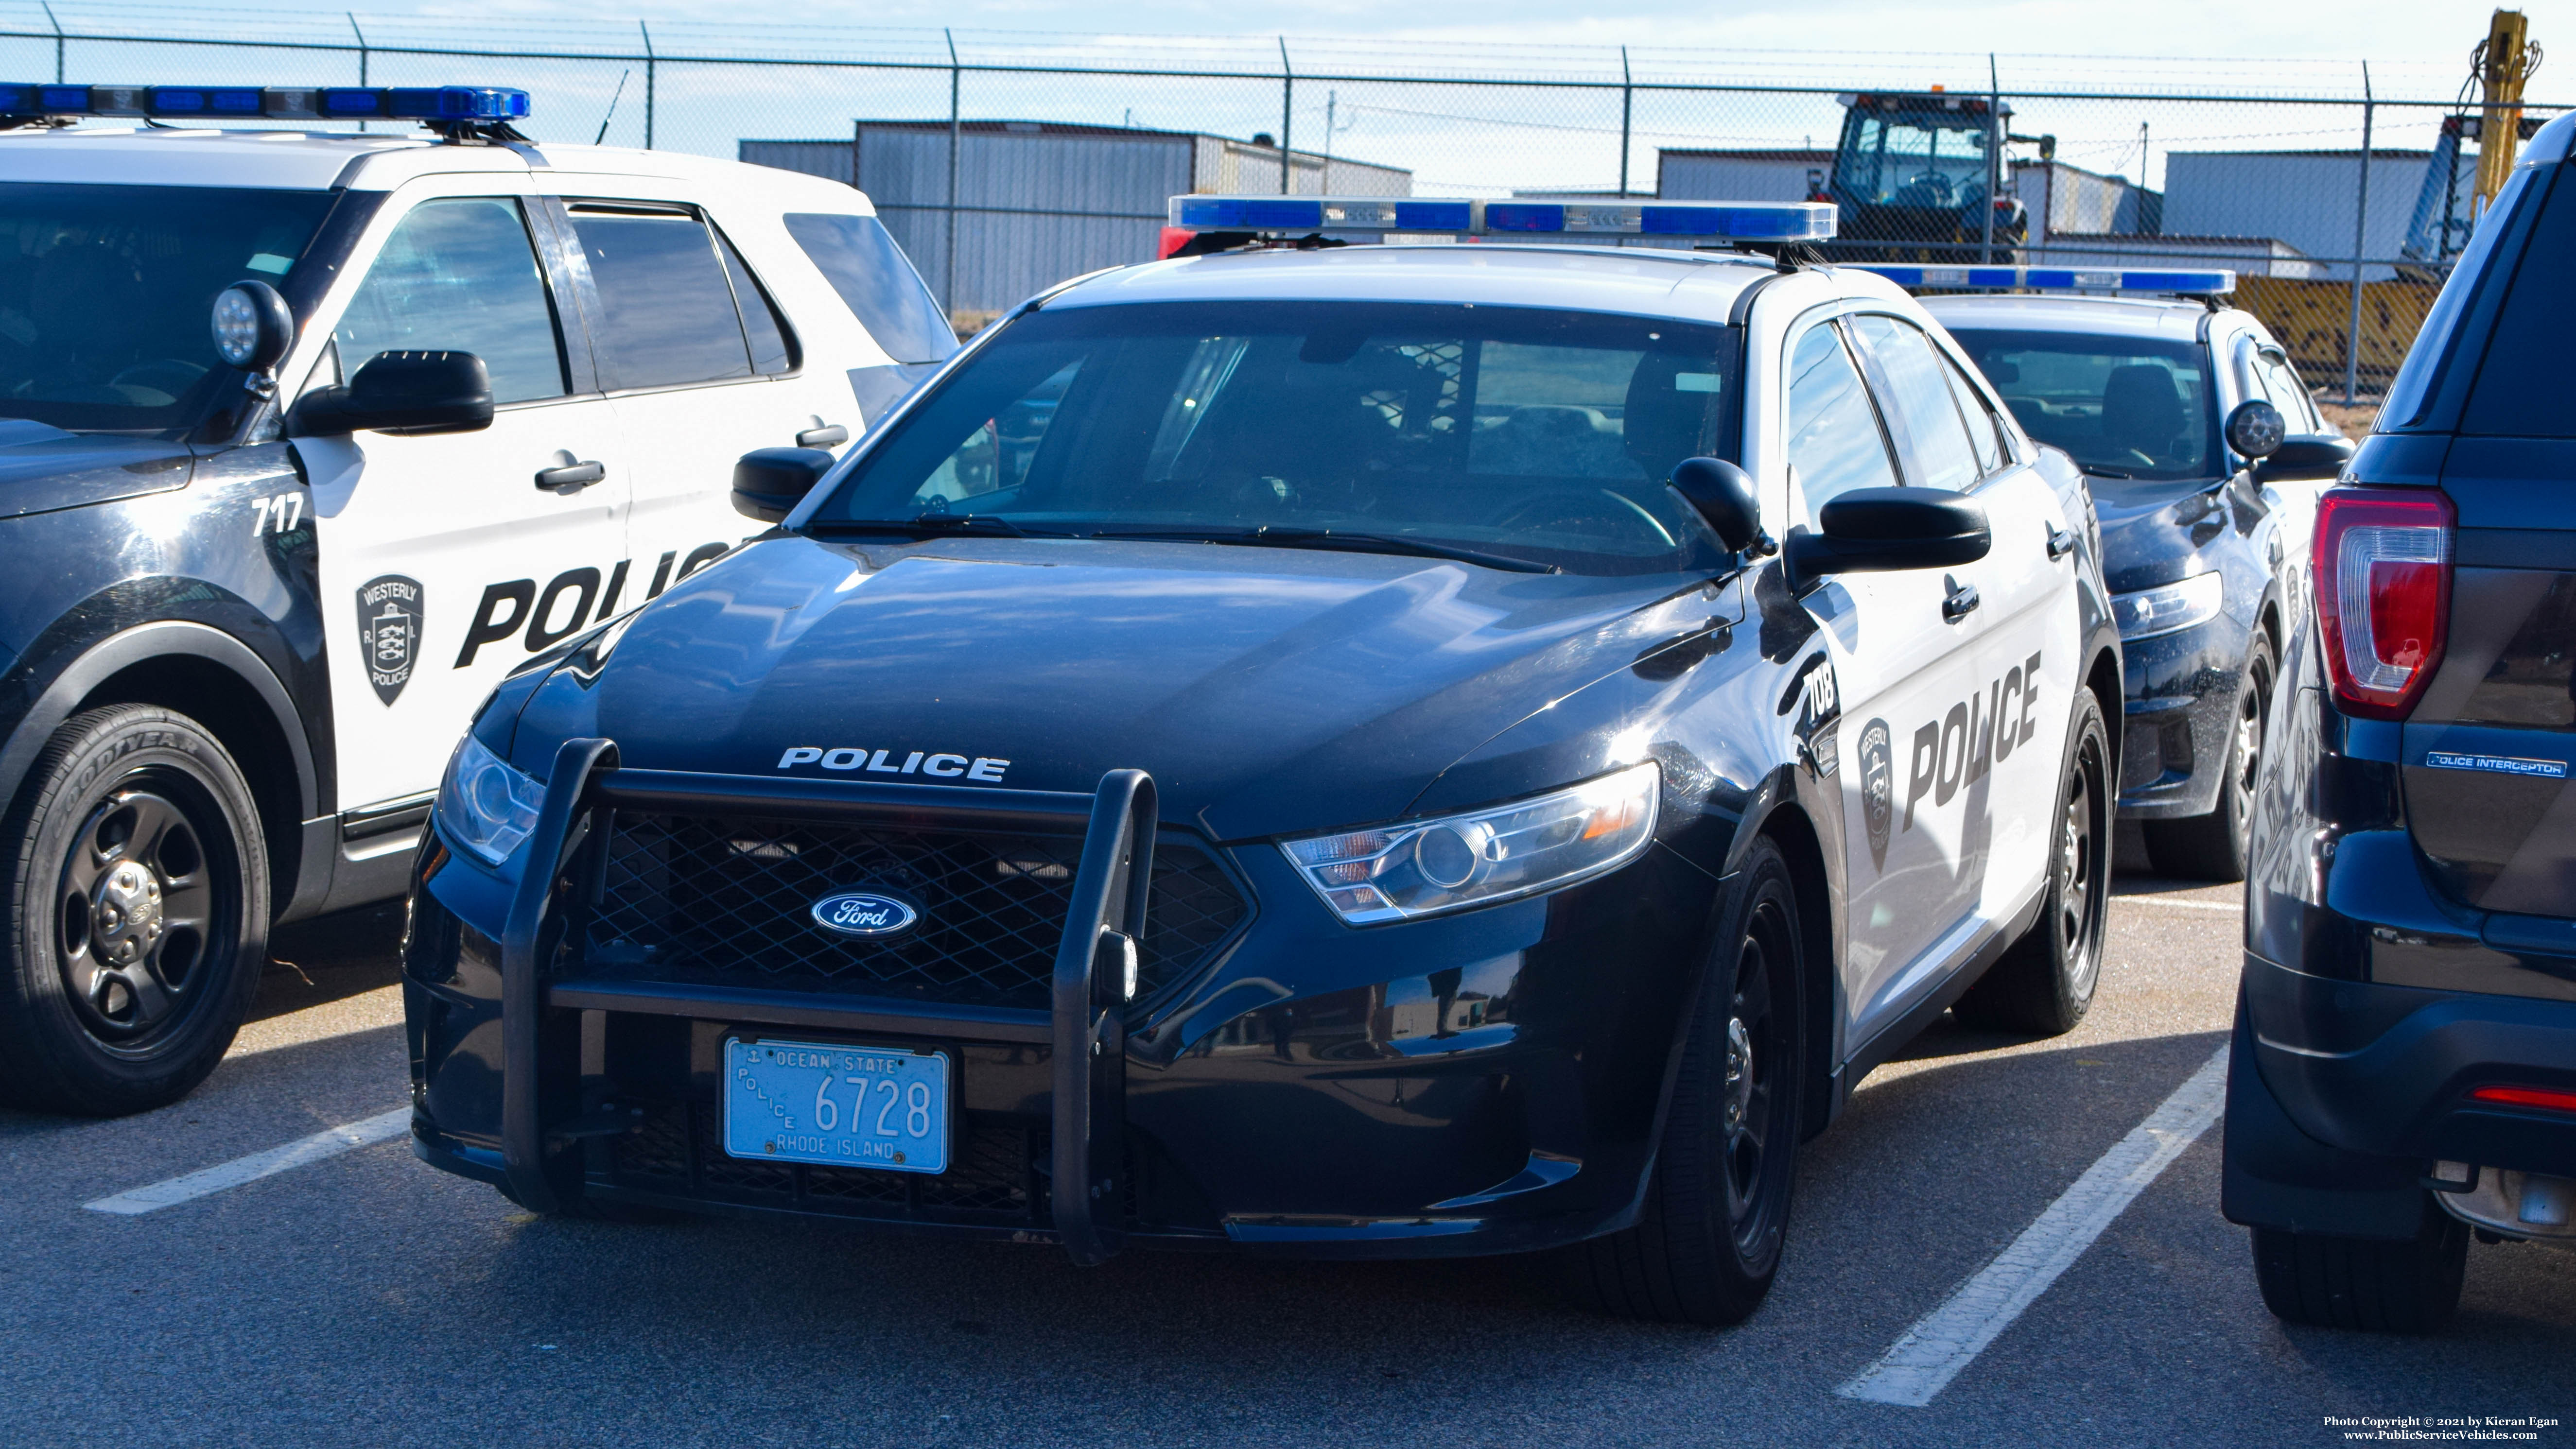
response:
<path id="1" fill-rule="evenodd" d="M 775 538 L 567 659 L 513 757 L 541 772 L 554 741 L 595 731 L 647 770 L 925 782 L 894 772 L 920 752 L 1087 793 L 1139 767 L 1164 818 L 1216 839 L 1332 829 L 1401 816 L 1466 752 L 1690 628 L 1708 610 L 1677 602 L 1698 584 L 1185 543 Z M 781 770 L 796 746 L 884 752 L 886 770 Z"/>

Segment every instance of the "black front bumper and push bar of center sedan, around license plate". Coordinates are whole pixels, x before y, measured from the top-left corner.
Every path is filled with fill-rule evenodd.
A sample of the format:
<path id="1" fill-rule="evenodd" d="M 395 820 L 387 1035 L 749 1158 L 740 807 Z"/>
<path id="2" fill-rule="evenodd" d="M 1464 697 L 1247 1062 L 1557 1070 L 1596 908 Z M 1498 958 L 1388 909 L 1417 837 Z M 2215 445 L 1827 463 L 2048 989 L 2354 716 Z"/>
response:
<path id="1" fill-rule="evenodd" d="M 523 1202 L 1064 1243 L 1084 1261 L 1123 1243 L 1494 1253 L 1636 1215 L 1718 891 L 1672 849 L 1540 898 L 1350 929 L 1275 849 L 1247 847 L 1231 865 L 1249 924 L 1193 978 L 1136 1004 L 1108 1001 L 1105 973 L 1079 950 L 1056 955 L 1051 1011 L 587 981 L 567 970 L 580 950 L 562 927 L 580 911 L 567 883 L 582 878 L 585 821 L 605 831 L 618 806 L 685 795 L 693 808 L 912 821 L 956 821 L 969 806 L 1054 813 L 1087 831 L 1064 939 L 1133 924 L 1131 901 L 1084 888 L 1100 852 L 1108 878 L 1115 847 L 1103 839 L 1118 821 L 1141 839 L 1154 829 L 1133 800 L 1110 808 L 1105 795 L 894 785 L 871 800 L 850 785 L 819 795 L 595 764 L 559 759 L 523 849 L 567 862 L 544 885 L 518 888 L 435 847 L 422 860 L 404 1001 L 415 1150 L 440 1168 L 507 1184 Z M 762 798 L 744 800 L 744 788 Z M 726 1158 L 714 1086 L 739 1032 L 948 1050 L 961 1063 L 956 1163 L 920 1176 Z M 1079 1210 L 1064 1210 L 1059 1181 L 1087 1181 Z"/>

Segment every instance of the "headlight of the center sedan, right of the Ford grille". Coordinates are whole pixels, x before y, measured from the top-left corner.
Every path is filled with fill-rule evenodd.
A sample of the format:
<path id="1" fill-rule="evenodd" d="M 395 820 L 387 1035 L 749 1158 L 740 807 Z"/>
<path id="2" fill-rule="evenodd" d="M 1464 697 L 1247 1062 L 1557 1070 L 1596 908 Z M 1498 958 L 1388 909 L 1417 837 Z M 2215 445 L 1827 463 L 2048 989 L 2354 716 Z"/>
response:
<path id="1" fill-rule="evenodd" d="M 1489 906 L 1636 860 L 1654 839 L 1662 772 L 1649 759 L 1571 790 L 1489 811 L 1280 842 L 1355 927 Z"/>

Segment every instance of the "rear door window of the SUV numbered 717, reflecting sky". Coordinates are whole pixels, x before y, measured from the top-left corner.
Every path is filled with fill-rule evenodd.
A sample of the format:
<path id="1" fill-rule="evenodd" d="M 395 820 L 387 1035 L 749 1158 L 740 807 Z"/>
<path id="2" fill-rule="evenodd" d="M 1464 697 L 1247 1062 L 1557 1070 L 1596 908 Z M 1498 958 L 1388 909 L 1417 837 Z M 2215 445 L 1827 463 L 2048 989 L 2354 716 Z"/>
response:
<path id="1" fill-rule="evenodd" d="M 574 201 L 572 232 L 600 288 L 600 386 L 662 389 L 752 376 L 716 239 L 693 211 Z"/>

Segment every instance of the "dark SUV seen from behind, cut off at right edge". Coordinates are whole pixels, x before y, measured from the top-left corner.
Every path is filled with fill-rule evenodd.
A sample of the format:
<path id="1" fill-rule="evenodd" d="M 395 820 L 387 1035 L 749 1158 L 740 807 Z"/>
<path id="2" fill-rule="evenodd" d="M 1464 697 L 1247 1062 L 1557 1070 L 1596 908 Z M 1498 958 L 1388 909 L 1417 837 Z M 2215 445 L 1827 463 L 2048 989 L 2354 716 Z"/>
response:
<path id="1" fill-rule="evenodd" d="M 2226 1215 L 2272 1313 L 2439 1328 L 2576 1246 L 2576 118 L 2540 129 L 2318 499 L 2257 788 Z"/>

